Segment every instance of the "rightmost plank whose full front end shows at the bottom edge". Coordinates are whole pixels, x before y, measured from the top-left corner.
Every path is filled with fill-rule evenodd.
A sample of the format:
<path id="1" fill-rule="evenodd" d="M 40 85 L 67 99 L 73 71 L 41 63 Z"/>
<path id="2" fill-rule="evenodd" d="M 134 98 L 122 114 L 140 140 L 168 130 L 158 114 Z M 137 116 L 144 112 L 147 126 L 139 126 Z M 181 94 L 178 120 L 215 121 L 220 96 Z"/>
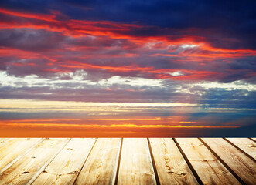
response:
<path id="1" fill-rule="evenodd" d="M 197 138 L 176 138 L 203 184 L 240 184 Z"/>

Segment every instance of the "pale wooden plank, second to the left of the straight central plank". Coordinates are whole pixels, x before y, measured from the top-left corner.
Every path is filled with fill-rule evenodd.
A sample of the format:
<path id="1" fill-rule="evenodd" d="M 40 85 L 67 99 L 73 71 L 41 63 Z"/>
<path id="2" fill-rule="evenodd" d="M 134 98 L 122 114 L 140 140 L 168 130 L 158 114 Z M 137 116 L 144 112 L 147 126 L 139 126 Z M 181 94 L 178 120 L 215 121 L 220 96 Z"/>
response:
<path id="1" fill-rule="evenodd" d="M 94 138 L 73 138 L 70 140 L 32 184 L 73 184 L 94 146 L 95 140 Z"/>

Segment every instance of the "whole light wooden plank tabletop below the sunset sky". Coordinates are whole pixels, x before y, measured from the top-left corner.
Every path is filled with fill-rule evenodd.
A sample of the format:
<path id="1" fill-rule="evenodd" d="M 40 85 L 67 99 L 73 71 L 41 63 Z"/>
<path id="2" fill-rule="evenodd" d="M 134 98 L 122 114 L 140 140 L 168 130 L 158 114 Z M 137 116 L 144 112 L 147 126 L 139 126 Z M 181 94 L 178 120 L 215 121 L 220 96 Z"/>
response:
<path id="1" fill-rule="evenodd" d="M 0 138 L 0 184 L 256 184 L 255 138 Z"/>

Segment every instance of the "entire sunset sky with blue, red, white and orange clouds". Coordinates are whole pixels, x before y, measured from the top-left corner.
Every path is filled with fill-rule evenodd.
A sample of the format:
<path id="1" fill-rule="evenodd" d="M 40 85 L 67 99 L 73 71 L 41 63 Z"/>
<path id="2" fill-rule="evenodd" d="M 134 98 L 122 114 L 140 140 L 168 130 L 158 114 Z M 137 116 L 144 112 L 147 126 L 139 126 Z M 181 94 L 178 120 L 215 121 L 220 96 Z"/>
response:
<path id="1" fill-rule="evenodd" d="M 255 136 L 256 2 L 0 2 L 0 135 Z"/>

